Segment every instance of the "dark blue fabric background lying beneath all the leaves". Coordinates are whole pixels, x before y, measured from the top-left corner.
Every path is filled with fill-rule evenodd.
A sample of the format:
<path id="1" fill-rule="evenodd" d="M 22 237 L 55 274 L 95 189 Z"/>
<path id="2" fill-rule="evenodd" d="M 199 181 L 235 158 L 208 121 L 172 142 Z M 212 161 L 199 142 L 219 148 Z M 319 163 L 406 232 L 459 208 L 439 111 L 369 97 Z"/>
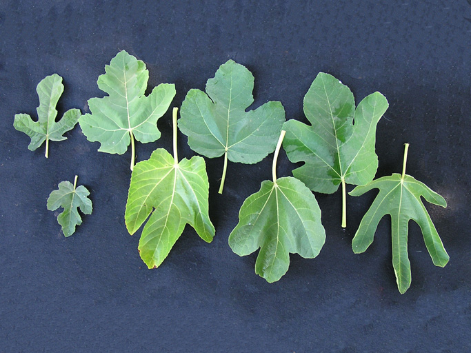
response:
<path id="1" fill-rule="evenodd" d="M 471 352 L 470 36 L 471 5 L 455 1 L 77 1 L 0 3 L 0 351 L 1 352 Z M 378 125 L 377 177 L 401 172 L 442 194 L 428 206 L 450 263 L 436 268 L 410 225 L 412 286 L 399 294 L 390 220 L 364 254 L 351 240 L 374 192 L 317 194 L 327 240 L 316 259 L 291 256 L 281 281 L 254 274 L 256 254 L 228 246 L 243 200 L 270 179 L 272 157 L 207 160 L 210 244 L 190 227 L 157 270 L 139 259 L 139 234 L 123 213 L 130 152 L 97 152 L 77 126 L 67 141 L 27 149 L 14 114 L 35 114 L 35 88 L 57 72 L 66 90 L 59 115 L 102 97 L 97 77 L 119 50 L 146 62 L 150 87 L 176 83 L 176 106 L 203 89 L 228 59 L 255 77 L 253 107 L 283 103 L 306 121 L 302 103 L 319 71 L 350 86 L 357 103 L 379 90 L 390 108 Z M 169 112 L 157 143 L 137 160 L 171 149 Z M 193 153 L 179 134 L 182 157 Z M 279 177 L 294 165 L 284 152 Z M 46 199 L 57 183 L 92 192 L 94 212 L 65 239 Z M 351 188 L 349 188 L 351 190 Z"/>

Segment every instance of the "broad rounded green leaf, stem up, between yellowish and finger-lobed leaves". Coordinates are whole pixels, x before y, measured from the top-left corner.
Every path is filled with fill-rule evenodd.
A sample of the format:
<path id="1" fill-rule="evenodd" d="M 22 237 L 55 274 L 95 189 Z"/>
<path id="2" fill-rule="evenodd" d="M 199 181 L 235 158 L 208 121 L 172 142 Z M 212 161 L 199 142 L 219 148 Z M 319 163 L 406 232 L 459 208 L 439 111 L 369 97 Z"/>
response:
<path id="1" fill-rule="evenodd" d="M 276 159 L 277 154 L 274 181 L 263 181 L 260 191 L 243 202 L 239 223 L 229 236 L 230 248 L 239 256 L 260 248 L 255 273 L 270 283 L 288 271 L 290 253 L 312 259 L 325 242 L 314 194 L 298 179 L 277 179 Z"/>

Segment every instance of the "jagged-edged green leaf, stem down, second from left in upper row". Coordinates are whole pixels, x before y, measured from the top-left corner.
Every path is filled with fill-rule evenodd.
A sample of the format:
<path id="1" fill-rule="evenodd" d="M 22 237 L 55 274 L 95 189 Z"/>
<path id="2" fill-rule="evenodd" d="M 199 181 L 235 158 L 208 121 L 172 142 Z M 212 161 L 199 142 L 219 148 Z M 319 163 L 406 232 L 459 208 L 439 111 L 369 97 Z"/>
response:
<path id="1" fill-rule="evenodd" d="M 175 85 L 161 83 L 147 97 L 149 79 L 146 64 L 122 50 L 105 67 L 98 87 L 108 96 L 88 101 L 91 114 L 79 119 L 88 141 L 101 143 L 99 152 L 123 154 L 131 143 L 134 166 L 134 138 L 142 143 L 157 141 L 157 120 L 168 110 Z"/>

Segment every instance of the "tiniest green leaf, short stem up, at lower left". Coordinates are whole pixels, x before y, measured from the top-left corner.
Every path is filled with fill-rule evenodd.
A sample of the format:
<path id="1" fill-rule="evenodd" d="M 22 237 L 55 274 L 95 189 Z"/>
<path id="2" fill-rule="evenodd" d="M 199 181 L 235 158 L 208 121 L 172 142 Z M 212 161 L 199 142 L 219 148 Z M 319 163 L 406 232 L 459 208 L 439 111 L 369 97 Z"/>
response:
<path id="1" fill-rule="evenodd" d="M 75 232 L 75 226 L 81 225 L 82 219 L 79 208 L 84 214 L 92 214 L 92 201 L 88 199 L 87 188 L 83 185 L 77 187 L 77 176 L 74 185 L 70 181 L 61 181 L 59 189 L 50 193 L 48 198 L 48 210 L 55 211 L 59 207 L 63 212 L 57 216 L 57 222 L 62 226 L 65 236 L 71 236 Z"/>

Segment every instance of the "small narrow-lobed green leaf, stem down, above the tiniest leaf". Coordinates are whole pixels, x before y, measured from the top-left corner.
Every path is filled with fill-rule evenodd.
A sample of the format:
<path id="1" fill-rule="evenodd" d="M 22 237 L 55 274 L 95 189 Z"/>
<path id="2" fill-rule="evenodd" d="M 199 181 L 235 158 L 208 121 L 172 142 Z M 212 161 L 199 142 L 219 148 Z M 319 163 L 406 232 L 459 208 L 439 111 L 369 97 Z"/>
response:
<path id="1" fill-rule="evenodd" d="M 67 137 L 63 134 L 72 130 L 80 117 L 80 110 L 70 109 L 61 120 L 56 122 L 56 105 L 63 92 L 62 77 L 52 74 L 45 77 L 37 85 L 36 92 L 39 97 L 37 108 L 38 121 L 33 121 L 28 114 L 16 114 L 13 126 L 18 131 L 24 132 L 31 138 L 28 149 L 31 151 L 39 148 L 46 141 L 45 156 L 49 156 L 49 141 L 63 141 Z"/>

